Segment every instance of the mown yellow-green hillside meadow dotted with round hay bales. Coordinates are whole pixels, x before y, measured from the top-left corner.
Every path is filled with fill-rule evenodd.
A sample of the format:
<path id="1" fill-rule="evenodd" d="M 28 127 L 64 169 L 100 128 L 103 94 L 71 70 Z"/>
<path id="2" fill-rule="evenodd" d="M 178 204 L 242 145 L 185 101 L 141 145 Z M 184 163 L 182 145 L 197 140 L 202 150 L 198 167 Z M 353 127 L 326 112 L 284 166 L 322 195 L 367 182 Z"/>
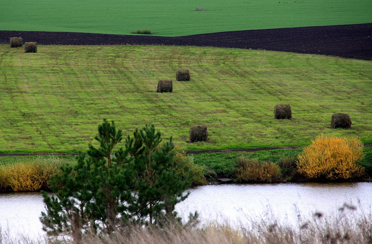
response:
<path id="1" fill-rule="evenodd" d="M 191 81 L 175 81 L 189 68 Z M 160 79 L 173 93 L 156 93 Z M 372 62 L 320 55 L 177 46 L 0 45 L 0 150 L 86 149 L 103 118 L 124 134 L 145 123 L 181 148 L 306 145 L 321 133 L 372 141 Z M 289 103 L 292 120 L 275 120 Z M 352 129 L 330 129 L 349 113 Z M 188 143 L 207 125 L 208 142 Z"/>

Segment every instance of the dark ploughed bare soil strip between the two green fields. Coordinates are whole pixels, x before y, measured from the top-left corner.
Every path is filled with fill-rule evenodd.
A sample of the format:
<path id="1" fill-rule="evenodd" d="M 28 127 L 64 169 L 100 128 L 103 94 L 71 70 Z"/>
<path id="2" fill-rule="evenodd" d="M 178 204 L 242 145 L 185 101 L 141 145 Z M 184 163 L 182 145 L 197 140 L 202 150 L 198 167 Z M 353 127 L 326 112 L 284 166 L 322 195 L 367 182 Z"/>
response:
<path id="1" fill-rule="evenodd" d="M 214 46 L 372 60 L 372 23 L 241 30 L 177 37 L 3 30 L 0 31 L 0 43 L 9 43 L 9 38 L 14 36 L 21 36 L 24 42 L 44 45 Z"/>

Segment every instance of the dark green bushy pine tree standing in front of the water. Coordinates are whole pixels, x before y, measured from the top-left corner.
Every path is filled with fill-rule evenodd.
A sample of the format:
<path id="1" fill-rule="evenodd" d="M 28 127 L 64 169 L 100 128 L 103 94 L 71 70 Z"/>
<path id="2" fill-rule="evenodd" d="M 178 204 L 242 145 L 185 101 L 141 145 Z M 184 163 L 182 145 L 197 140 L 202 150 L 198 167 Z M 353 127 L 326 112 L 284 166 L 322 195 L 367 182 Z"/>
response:
<path id="1" fill-rule="evenodd" d="M 43 192 L 46 212 L 40 220 L 48 235 L 68 235 L 80 243 L 87 231 L 111 233 L 128 224 L 162 226 L 180 221 L 174 206 L 184 200 L 190 179 L 169 170 L 172 138 L 161 144 L 154 126 L 126 137 L 115 123 L 98 126 L 99 148 L 89 145 L 75 166 L 62 167 L 50 180 L 53 194 Z M 196 215 L 195 215 L 196 216 Z"/>

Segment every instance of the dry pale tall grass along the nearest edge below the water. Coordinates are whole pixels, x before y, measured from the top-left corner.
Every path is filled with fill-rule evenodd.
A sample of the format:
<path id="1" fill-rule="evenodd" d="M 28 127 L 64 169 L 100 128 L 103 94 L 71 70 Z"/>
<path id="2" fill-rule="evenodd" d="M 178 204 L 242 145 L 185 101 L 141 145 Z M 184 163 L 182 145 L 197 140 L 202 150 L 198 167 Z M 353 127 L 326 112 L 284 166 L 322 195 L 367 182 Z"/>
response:
<path id="1" fill-rule="evenodd" d="M 359 209 L 358 211 L 357 208 Z M 271 216 L 260 221 L 250 221 L 243 227 L 211 222 L 203 227 L 172 225 L 166 228 L 128 227 L 111 235 L 97 236 L 86 234 L 81 244 L 371 244 L 372 214 L 359 206 L 345 203 L 336 216 L 315 213 L 310 219 L 298 214 L 296 223 L 281 224 Z M 0 243 L 74 243 L 71 240 L 30 241 L 21 237 L 18 240 L 1 232 Z"/>

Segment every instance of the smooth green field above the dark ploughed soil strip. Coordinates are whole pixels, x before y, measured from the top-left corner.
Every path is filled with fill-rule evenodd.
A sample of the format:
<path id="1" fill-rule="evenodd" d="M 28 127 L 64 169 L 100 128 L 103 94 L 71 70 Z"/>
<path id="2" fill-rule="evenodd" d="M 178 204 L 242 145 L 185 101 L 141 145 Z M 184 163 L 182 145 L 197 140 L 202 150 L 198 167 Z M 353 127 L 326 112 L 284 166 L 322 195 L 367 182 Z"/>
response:
<path id="1" fill-rule="evenodd" d="M 18 0 L 0 8 L 0 30 L 125 35 L 137 29 L 180 36 L 371 22 L 371 0 Z"/>

